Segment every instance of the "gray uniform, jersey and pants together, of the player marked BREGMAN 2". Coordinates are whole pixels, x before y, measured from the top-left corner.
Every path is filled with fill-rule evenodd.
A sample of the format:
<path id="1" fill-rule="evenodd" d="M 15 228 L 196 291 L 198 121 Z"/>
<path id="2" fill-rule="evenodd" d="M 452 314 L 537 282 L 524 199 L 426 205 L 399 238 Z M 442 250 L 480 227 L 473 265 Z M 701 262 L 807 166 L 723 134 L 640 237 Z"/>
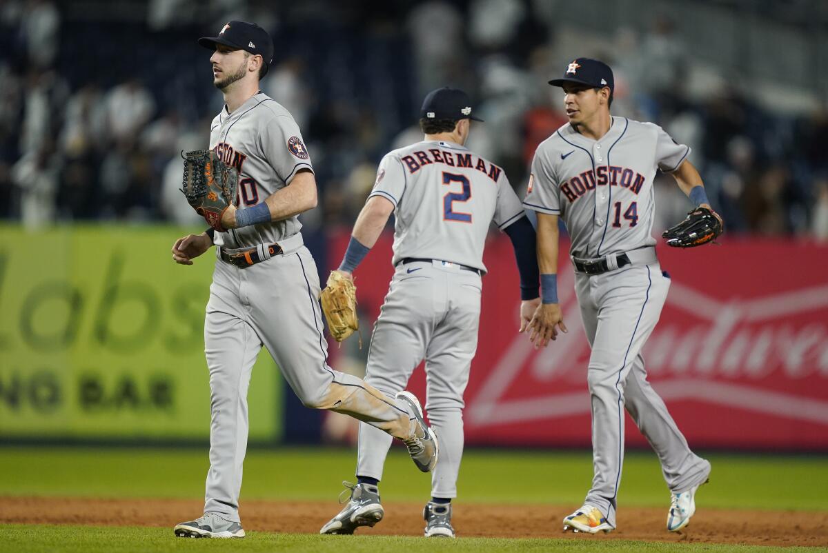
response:
<path id="1" fill-rule="evenodd" d="M 371 196 L 395 206 L 397 270 L 373 329 L 365 381 L 381 392 L 405 389 L 426 360 L 426 409 L 440 436 L 431 478 L 436 498 L 457 496 L 463 454 L 463 393 L 477 349 L 483 250 L 491 224 L 525 216 L 503 171 L 452 142 L 418 142 L 379 165 Z M 431 259 L 402 263 L 406 258 Z M 391 440 L 359 425 L 357 475 L 383 477 Z"/>

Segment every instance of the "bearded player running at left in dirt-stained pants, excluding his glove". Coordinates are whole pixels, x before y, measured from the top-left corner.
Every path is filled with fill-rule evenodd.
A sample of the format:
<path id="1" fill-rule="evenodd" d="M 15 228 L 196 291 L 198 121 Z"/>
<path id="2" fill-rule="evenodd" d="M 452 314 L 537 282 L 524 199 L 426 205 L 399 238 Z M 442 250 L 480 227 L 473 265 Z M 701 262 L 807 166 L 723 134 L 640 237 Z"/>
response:
<path id="1" fill-rule="evenodd" d="M 217 258 L 205 317 L 211 411 L 205 514 L 176 525 L 175 533 L 241 537 L 247 392 L 262 345 L 306 406 L 346 413 L 403 440 L 426 472 L 436 463 L 437 443 L 412 394 L 391 399 L 325 363 L 320 283 L 297 219 L 316 205 L 313 166 L 291 114 L 258 89 L 272 60 L 271 37 L 253 23 L 233 21 L 199 44 L 214 50 L 214 84 L 226 103 L 213 120 L 209 147 L 237 168 L 239 190 L 238 209 L 222 215 L 228 232 L 190 234 L 172 248 L 174 261 L 191 265 L 215 243 Z"/>

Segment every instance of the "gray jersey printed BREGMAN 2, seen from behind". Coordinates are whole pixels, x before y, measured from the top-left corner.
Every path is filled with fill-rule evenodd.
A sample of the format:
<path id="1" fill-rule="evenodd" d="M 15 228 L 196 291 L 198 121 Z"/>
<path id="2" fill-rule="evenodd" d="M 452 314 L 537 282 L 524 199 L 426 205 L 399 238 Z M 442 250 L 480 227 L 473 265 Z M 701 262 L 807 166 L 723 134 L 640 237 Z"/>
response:
<path id="1" fill-rule="evenodd" d="M 503 170 L 452 142 L 417 142 L 390 152 L 371 196 L 396 208 L 394 264 L 427 257 L 485 272 L 490 225 L 506 228 L 523 215 Z"/>

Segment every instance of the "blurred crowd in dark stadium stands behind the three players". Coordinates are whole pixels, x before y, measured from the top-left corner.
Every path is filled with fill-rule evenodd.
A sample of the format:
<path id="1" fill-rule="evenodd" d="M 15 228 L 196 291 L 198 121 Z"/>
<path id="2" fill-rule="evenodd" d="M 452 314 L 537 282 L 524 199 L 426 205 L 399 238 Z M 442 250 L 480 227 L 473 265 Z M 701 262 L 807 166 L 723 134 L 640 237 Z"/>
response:
<path id="1" fill-rule="evenodd" d="M 308 230 L 353 223 L 381 156 L 421 139 L 421 98 L 446 84 L 476 99 L 486 123 L 469 146 L 522 195 L 535 147 L 566 122 L 546 80 L 590 55 L 614 68 L 614 114 L 693 147 L 729 232 L 828 240 L 826 99 L 782 113 L 723 76 L 686 94 L 698 60 L 666 15 L 594 41 L 561 29 L 559 2 L 298 3 L 0 2 L 0 219 L 197 223 L 177 190 L 179 151 L 206 147 L 223 103 L 195 40 L 243 19 L 271 31 L 262 89 L 314 160 L 321 209 L 303 216 Z M 656 230 L 690 207 L 672 179 L 657 195 Z"/>

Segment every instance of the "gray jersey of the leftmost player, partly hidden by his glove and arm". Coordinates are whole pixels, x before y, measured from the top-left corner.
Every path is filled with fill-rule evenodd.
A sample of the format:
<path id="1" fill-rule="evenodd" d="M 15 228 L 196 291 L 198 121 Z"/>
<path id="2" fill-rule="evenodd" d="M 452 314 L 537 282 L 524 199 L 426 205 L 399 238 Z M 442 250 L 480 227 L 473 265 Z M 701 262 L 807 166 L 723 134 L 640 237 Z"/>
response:
<path id="1" fill-rule="evenodd" d="M 238 209 L 263 202 L 284 188 L 297 171 L 313 171 L 299 126 L 282 104 L 262 92 L 233 113 L 227 106 L 213 119 L 210 149 L 238 170 Z M 278 242 L 300 231 L 298 216 L 215 233 L 217 246 L 245 248 Z"/>

